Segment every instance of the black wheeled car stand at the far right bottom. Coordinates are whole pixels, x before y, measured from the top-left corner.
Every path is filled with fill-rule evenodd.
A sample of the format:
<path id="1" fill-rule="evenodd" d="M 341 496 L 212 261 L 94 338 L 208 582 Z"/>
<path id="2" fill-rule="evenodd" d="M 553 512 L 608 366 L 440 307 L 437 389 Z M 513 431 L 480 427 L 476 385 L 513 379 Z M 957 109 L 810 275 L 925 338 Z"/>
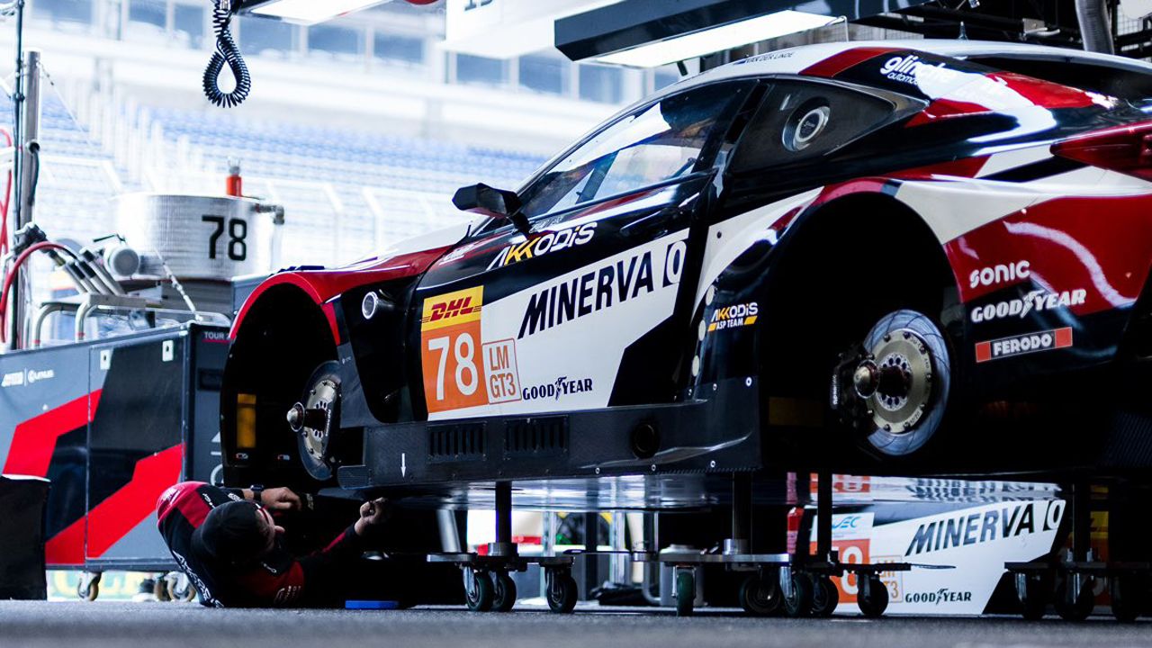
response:
<path id="1" fill-rule="evenodd" d="M 1096 581 L 1105 580 L 1112 598 L 1112 615 L 1123 623 L 1134 621 L 1146 613 L 1152 564 L 1093 559 L 1091 484 L 1076 482 L 1071 491 L 1068 559 L 1005 564 L 1014 577 L 1021 615 L 1025 619 L 1040 619 L 1051 602 L 1062 619 L 1083 621 L 1096 608 Z"/>

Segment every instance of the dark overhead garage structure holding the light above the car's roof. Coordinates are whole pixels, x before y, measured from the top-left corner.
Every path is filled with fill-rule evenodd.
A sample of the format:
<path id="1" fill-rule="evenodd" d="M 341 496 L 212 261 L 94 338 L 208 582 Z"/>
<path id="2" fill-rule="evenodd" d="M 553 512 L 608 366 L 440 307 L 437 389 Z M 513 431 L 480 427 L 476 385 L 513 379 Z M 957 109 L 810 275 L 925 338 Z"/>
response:
<path id="1" fill-rule="evenodd" d="M 1117 53 L 1136 58 L 1152 55 L 1149 22 L 1127 18 L 1115 0 L 1098 1 L 1109 15 Z M 558 20 L 555 40 L 556 47 L 574 61 L 647 67 L 702 54 L 684 48 L 681 52 L 689 55 L 670 60 L 662 60 L 668 54 L 655 58 L 629 54 L 661 45 L 667 51 L 673 42 L 682 42 L 684 37 L 715 33 L 721 28 L 730 31 L 734 25 L 757 20 L 761 25 L 770 25 L 759 29 L 763 37 L 756 37 L 753 30 L 750 39 L 718 38 L 718 46 L 705 53 L 733 50 L 844 18 L 854 24 L 929 38 L 965 37 L 1081 48 L 1083 40 L 1076 3 L 1076 0 L 623 0 Z M 785 20 L 796 16 L 817 20 L 810 21 L 808 27 L 804 21 L 788 23 Z M 776 31 L 772 29 L 773 18 L 780 18 L 775 21 Z M 1119 29 L 1121 23 L 1126 29 Z M 780 29 L 787 31 L 780 32 Z"/>

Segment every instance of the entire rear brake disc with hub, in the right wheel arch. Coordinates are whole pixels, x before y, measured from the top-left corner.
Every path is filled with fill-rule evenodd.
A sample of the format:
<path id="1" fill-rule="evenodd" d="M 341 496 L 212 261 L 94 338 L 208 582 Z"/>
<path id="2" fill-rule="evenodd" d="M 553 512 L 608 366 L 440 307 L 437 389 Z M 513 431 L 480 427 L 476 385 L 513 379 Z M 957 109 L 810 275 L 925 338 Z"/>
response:
<path id="1" fill-rule="evenodd" d="M 865 450 L 915 454 L 945 423 L 954 370 L 945 334 L 927 315 L 902 309 L 881 317 L 856 348 L 841 355 L 833 407 Z"/>

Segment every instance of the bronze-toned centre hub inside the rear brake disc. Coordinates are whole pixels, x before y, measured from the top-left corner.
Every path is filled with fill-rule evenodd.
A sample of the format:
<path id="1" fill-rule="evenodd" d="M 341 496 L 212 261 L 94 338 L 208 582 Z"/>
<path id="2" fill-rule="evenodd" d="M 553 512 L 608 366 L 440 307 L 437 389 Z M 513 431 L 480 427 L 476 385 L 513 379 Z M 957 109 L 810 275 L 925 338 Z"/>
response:
<path id="1" fill-rule="evenodd" d="M 910 431 L 932 398 L 932 353 L 912 331 L 884 336 L 856 367 L 852 385 L 876 427 L 893 434 Z"/>

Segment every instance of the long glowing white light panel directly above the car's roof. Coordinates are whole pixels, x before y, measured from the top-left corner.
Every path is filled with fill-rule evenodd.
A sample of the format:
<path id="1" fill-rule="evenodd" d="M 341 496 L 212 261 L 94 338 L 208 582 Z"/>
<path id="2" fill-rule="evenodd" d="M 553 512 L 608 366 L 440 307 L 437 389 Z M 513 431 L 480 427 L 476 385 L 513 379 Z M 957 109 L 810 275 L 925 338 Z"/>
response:
<path id="1" fill-rule="evenodd" d="M 621 52 L 613 52 L 596 60 L 601 63 L 654 68 L 704 56 L 725 50 L 734 50 L 770 38 L 808 31 L 832 24 L 833 18 L 804 12 L 776 12 L 745 21 L 729 23 L 675 38 L 657 40 Z"/>

